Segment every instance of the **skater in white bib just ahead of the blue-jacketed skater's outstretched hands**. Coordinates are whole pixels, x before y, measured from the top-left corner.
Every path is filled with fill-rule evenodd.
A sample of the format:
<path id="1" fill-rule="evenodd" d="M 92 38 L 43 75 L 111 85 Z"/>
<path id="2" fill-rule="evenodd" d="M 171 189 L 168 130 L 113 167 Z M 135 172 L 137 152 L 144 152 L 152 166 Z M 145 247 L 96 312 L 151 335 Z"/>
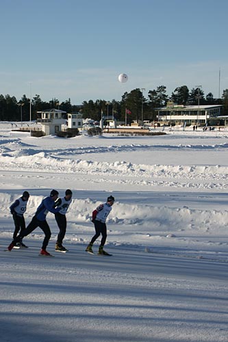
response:
<path id="1" fill-rule="evenodd" d="M 64 198 L 58 198 L 55 202 L 56 207 L 60 208 L 58 213 L 55 213 L 55 220 L 60 228 L 60 233 L 58 234 L 58 238 L 55 244 L 56 252 L 68 252 L 68 250 L 62 246 L 62 241 L 66 235 L 66 213 L 68 211 L 68 207 L 72 202 L 72 191 L 67 189 L 65 192 Z"/>

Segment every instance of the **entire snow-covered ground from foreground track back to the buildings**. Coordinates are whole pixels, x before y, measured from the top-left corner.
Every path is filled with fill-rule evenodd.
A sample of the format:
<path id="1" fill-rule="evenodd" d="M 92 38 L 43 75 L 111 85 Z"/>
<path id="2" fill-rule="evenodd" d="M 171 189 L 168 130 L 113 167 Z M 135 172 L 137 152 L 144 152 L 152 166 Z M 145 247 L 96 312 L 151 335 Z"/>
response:
<path id="1" fill-rule="evenodd" d="M 153 137 L 30 137 L 0 122 L 1 341 L 228 341 L 228 131 Z M 73 190 L 66 254 L 4 252 L 10 204 L 31 194 L 27 223 L 51 189 Z M 84 252 L 92 210 L 112 194 L 105 249 Z M 94 246 L 97 250 L 99 242 Z"/>

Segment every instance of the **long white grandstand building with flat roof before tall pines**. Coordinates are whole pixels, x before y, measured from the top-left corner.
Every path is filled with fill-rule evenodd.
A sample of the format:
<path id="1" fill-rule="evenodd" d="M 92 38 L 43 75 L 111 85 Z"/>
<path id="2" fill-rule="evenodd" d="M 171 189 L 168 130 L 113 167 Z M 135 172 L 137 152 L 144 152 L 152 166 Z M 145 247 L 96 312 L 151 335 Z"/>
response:
<path id="1" fill-rule="evenodd" d="M 157 108 L 158 122 L 180 124 L 205 124 L 210 118 L 220 116 L 222 105 L 170 105 Z"/>

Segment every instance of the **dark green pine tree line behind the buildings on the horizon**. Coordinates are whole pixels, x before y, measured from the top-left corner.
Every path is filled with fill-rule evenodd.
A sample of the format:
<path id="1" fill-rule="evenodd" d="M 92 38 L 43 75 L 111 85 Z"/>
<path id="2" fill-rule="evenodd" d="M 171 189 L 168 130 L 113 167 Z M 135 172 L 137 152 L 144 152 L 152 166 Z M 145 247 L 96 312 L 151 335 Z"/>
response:
<path id="1" fill-rule="evenodd" d="M 42 101 L 40 95 L 36 94 L 31 99 L 31 120 L 40 117 L 37 111 L 45 109 L 60 109 L 66 113 L 81 113 L 84 118 L 100 120 L 101 113 L 104 116 L 114 116 L 116 120 L 125 121 L 125 113 L 127 120 L 155 120 L 157 107 L 164 107 L 168 101 L 178 105 L 223 105 L 223 114 L 228 115 L 228 89 L 223 90 L 221 98 L 214 98 L 212 92 L 204 94 L 201 87 L 189 90 L 187 86 L 176 88 L 171 96 L 166 94 L 166 86 L 157 86 L 157 89 L 149 90 L 147 98 L 144 97 L 144 89 L 136 88 L 131 92 L 125 92 L 121 101 L 107 101 L 97 99 L 96 101 L 84 101 L 81 105 L 72 105 L 71 99 L 60 102 L 57 98 L 53 98 L 49 102 Z M 17 101 L 15 96 L 9 94 L 0 95 L 0 120 L 1 121 L 29 121 L 30 119 L 30 98 L 23 95 Z"/>

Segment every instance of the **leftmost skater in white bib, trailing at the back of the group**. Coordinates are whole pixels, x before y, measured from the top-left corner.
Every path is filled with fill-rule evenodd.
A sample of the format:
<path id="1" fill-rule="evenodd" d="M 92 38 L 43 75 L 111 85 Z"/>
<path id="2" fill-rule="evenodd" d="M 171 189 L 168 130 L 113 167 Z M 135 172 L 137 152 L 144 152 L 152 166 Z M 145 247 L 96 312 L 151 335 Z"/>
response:
<path id="1" fill-rule="evenodd" d="M 27 209 L 27 201 L 29 200 L 29 196 L 29 193 L 25 191 L 20 198 L 15 200 L 15 202 L 10 205 L 10 213 L 12 213 L 15 226 L 13 239 L 16 239 L 19 232 L 22 233 L 25 231 L 24 213 Z M 23 244 L 22 239 L 18 241 L 16 246 L 27 248 L 27 246 Z"/>

